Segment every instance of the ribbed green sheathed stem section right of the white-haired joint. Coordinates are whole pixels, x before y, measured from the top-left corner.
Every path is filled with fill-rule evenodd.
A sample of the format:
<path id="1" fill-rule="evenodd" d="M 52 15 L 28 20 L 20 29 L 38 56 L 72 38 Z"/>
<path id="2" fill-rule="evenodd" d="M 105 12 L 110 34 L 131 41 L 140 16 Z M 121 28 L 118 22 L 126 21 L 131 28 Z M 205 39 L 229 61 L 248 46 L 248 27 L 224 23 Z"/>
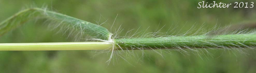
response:
<path id="1" fill-rule="evenodd" d="M 256 46 L 256 34 L 133 38 L 114 41 L 116 46 L 122 48 L 246 48 Z"/>

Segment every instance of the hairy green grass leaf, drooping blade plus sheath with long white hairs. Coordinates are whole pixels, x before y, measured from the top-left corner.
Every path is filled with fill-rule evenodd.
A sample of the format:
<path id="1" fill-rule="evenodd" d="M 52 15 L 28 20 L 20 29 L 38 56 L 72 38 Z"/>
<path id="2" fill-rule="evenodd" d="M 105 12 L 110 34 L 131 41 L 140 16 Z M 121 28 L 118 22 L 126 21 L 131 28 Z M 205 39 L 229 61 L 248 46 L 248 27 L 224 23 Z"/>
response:
<path id="1" fill-rule="evenodd" d="M 57 29 L 58 33 L 68 34 L 68 37 L 75 38 L 75 41 L 77 42 L 79 42 L 81 39 L 85 39 L 86 42 L 102 41 L 111 44 L 102 51 L 111 52 L 110 58 L 107 61 L 108 63 L 111 61 L 111 59 L 114 59 L 113 57 L 120 57 L 124 60 L 127 56 L 136 57 L 138 55 L 136 55 L 137 53 L 134 53 L 135 50 L 141 51 L 141 54 L 143 55 L 146 54 L 144 52 L 146 49 L 152 50 L 163 57 L 162 53 L 170 53 L 170 50 L 177 50 L 185 54 L 190 54 L 190 52 L 198 54 L 198 52 L 207 51 L 207 49 L 222 48 L 225 50 L 236 50 L 241 53 L 246 53 L 244 50 L 247 48 L 255 49 L 256 46 L 256 36 L 254 36 L 256 31 L 247 28 L 244 28 L 243 30 L 236 29 L 234 31 L 221 31 L 221 35 L 212 35 L 211 33 L 220 32 L 218 31 L 218 26 L 215 26 L 207 31 L 205 31 L 205 29 L 203 29 L 201 26 L 197 29 L 190 28 L 187 32 L 179 35 L 173 35 L 174 32 L 180 32 L 175 31 L 176 26 L 173 26 L 164 33 L 160 31 L 162 29 L 160 28 L 152 33 L 145 33 L 147 29 L 145 31 L 136 30 L 136 32 L 132 35 L 131 30 L 125 32 L 125 36 L 119 36 L 119 34 L 123 33 L 121 26 L 117 27 L 112 34 L 106 28 L 100 26 L 105 22 L 96 25 L 76 19 L 74 17 L 40 8 L 26 9 L 10 17 L 6 21 L 1 22 L 0 35 L 17 28 L 21 24 L 24 24 L 25 21 L 28 21 L 34 17 L 37 19 L 47 19 L 44 24 L 48 24 L 50 29 Z M 193 34 L 187 35 L 190 33 Z M 235 39 L 232 37 L 235 37 Z M 222 42 L 223 44 L 219 44 L 218 42 Z M 126 55 L 123 55 L 123 53 Z M 95 56 L 96 55 L 97 54 L 95 54 Z M 139 58 L 143 58 L 143 55 Z"/>

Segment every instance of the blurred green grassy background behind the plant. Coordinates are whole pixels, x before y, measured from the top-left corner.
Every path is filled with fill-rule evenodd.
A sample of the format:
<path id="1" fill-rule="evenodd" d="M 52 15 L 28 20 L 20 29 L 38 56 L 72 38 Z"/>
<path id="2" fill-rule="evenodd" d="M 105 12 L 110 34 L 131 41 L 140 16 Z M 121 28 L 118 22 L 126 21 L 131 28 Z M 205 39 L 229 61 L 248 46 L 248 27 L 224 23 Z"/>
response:
<path id="1" fill-rule="evenodd" d="M 117 16 L 114 28 L 121 26 L 123 33 L 131 29 L 153 32 L 163 27 L 161 32 L 177 26 L 173 35 L 195 29 L 210 29 L 216 24 L 221 27 L 243 22 L 254 22 L 255 8 L 233 8 L 234 2 L 254 2 L 254 0 L 216 0 L 232 3 L 229 8 L 197 8 L 201 0 L 0 0 L 0 21 L 5 20 L 26 7 L 45 7 L 49 10 L 95 23 L 101 18 L 102 26 L 110 29 Z M 211 0 L 206 0 L 212 3 Z M 256 5 L 255 5 L 256 6 Z M 140 27 L 140 28 L 139 28 Z M 40 22 L 27 22 L 0 37 L 0 43 L 32 42 L 72 42 L 61 33 L 46 30 Z M 174 28 L 174 27 L 173 27 Z M 114 32 L 115 30 L 111 30 Z M 132 33 L 134 33 L 133 31 Z M 193 31 L 195 32 L 195 31 Z M 192 33 L 193 33 L 192 32 Z M 172 32 L 170 32 L 172 33 Z M 124 52 L 125 60 L 116 56 L 108 65 L 110 53 L 100 51 L 0 51 L 1 73 L 35 72 L 110 72 L 110 73 L 255 73 L 255 50 L 201 49 L 200 52 L 180 53 L 176 50 L 134 50 L 134 56 Z M 191 50 L 187 50 L 191 51 Z M 142 58 L 142 57 L 143 58 Z M 127 60 L 127 61 L 126 61 Z"/>

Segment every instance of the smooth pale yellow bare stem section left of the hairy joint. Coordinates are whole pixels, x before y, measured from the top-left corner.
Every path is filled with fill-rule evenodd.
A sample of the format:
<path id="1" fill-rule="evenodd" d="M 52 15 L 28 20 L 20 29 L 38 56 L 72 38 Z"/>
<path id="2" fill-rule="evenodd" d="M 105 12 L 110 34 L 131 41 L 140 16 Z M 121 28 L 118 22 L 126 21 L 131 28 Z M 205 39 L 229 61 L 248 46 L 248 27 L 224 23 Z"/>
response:
<path id="1" fill-rule="evenodd" d="M 109 43 L 109 42 L 0 43 L 0 51 L 105 50 L 105 49 L 112 49 L 112 43 Z"/>

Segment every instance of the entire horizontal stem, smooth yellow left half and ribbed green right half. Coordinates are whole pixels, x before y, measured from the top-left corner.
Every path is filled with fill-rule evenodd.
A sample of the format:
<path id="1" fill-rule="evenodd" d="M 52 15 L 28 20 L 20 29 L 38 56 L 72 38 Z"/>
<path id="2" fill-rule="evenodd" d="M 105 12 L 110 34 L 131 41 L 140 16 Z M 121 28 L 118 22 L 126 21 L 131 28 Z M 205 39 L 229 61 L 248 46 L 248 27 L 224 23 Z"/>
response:
<path id="1" fill-rule="evenodd" d="M 161 38 L 115 39 L 121 48 L 251 48 L 256 46 L 256 34 L 174 36 Z M 105 50 L 110 42 L 57 42 L 57 43 L 0 43 L 0 50 Z M 120 48 L 119 48 L 120 49 Z"/>

